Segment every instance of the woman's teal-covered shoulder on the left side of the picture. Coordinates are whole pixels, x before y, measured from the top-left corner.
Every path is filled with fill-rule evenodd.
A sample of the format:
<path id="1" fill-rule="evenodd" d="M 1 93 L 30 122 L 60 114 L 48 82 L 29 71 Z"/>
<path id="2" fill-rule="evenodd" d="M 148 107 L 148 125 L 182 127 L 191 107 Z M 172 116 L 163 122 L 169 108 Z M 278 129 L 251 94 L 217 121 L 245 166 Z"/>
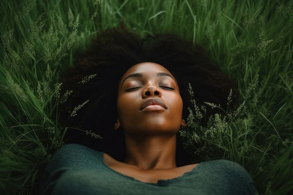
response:
<path id="1" fill-rule="evenodd" d="M 75 179 L 77 176 L 99 169 L 101 152 L 81 144 L 66 144 L 50 158 L 42 172 L 39 194 L 47 194 L 59 182 Z"/>

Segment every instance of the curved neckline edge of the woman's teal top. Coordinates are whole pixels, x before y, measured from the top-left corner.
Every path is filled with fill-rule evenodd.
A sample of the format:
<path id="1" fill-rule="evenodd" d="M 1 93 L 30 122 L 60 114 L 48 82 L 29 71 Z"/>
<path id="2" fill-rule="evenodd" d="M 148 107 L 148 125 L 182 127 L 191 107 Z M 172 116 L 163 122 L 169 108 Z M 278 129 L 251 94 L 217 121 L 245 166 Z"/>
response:
<path id="1" fill-rule="evenodd" d="M 115 172 L 115 173 L 118 174 L 118 175 L 121 175 L 121 176 L 123 176 L 123 177 L 125 177 L 125 178 L 128 178 L 128 179 L 131 179 L 131 180 L 135 180 L 135 181 L 140 182 L 140 183 L 151 184 L 151 185 L 156 185 L 156 186 L 162 186 L 162 185 L 166 185 L 166 184 L 168 184 L 168 183 L 170 183 L 170 182 L 173 182 L 173 181 L 176 181 L 176 180 L 180 180 L 180 179 L 182 179 L 182 178 L 184 178 L 184 177 L 186 177 L 186 176 L 192 174 L 193 172 L 195 172 L 195 170 L 197 169 L 197 167 L 198 167 L 200 164 L 204 163 L 204 162 L 199 163 L 199 164 L 196 165 L 191 171 L 185 172 L 185 173 L 183 173 L 183 175 L 181 175 L 181 176 L 179 176 L 179 177 L 175 177 L 175 178 L 167 179 L 167 180 L 158 180 L 157 183 L 149 183 L 149 182 L 142 182 L 142 181 L 140 181 L 140 180 L 135 179 L 134 177 L 130 177 L 130 176 L 128 176 L 128 175 L 124 175 L 124 174 L 122 174 L 122 173 L 120 173 L 120 172 L 117 172 L 117 171 L 111 169 L 108 165 L 106 165 L 106 163 L 105 163 L 105 161 L 104 161 L 104 152 L 101 153 L 100 160 L 103 162 L 103 164 L 105 165 L 106 168 L 110 169 L 111 171 Z"/>

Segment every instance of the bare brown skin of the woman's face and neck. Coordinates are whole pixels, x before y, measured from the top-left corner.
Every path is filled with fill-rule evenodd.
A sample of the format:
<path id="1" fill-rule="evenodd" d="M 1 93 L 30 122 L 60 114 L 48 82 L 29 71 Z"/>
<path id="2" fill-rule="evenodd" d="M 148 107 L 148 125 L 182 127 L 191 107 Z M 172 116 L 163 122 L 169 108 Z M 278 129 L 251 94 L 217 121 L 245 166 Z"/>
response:
<path id="1" fill-rule="evenodd" d="M 118 118 L 114 128 L 118 130 L 121 126 L 124 130 L 126 159 L 123 163 L 126 165 L 123 165 L 130 165 L 136 170 L 177 168 L 176 133 L 180 126 L 186 126 L 182 119 L 183 101 L 175 80 L 169 76 L 156 75 L 162 72 L 174 78 L 159 64 L 140 63 L 127 70 L 119 82 Z M 142 73 L 143 77 L 129 77 L 124 81 L 133 73 Z M 125 92 L 133 87 L 139 88 Z M 167 109 L 139 111 L 144 101 L 152 98 L 161 99 Z"/>

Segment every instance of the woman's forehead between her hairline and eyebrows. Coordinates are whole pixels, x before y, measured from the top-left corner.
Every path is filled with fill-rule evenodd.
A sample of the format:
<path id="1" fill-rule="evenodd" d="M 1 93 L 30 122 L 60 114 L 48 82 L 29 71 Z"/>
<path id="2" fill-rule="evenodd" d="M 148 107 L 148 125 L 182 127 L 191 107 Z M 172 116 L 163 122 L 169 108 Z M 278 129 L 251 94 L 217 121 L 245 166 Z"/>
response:
<path id="1" fill-rule="evenodd" d="M 152 63 L 152 62 L 144 62 L 144 63 L 139 63 L 134 66 L 132 66 L 130 69 L 128 69 L 124 75 L 122 76 L 120 82 L 125 79 L 130 74 L 133 73 L 157 73 L 157 72 L 165 72 L 168 73 L 169 75 L 172 75 L 165 67 L 162 65 Z M 172 75 L 173 76 L 173 75 Z"/>

